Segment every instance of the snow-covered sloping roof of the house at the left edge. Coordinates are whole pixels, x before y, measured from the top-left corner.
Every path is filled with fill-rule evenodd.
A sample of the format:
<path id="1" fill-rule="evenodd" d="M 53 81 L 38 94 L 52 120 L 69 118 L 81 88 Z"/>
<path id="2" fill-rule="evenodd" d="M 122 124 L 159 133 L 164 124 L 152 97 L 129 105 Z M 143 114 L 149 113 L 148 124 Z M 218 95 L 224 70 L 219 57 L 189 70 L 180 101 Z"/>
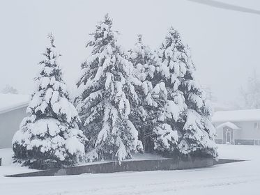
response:
<path id="1" fill-rule="evenodd" d="M 0 93 L 0 114 L 13 109 L 26 107 L 29 103 L 29 99 L 30 95 Z"/>

